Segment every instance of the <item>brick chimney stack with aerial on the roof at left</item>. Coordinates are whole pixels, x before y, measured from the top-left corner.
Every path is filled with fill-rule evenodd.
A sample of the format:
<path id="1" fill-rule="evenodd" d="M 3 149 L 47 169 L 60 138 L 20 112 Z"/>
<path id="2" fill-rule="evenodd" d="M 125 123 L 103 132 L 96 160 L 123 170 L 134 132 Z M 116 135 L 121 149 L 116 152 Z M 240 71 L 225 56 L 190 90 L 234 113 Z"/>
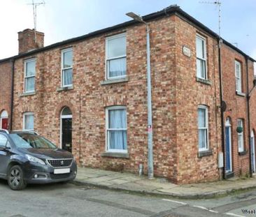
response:
<path id="1" fill-rule="evenodd" d="M 36 31 L 35 38 L 34 29 L 24 29 L 18 32 L 19 54 L 43 47 L 44 36 L 44 33 Z"/>

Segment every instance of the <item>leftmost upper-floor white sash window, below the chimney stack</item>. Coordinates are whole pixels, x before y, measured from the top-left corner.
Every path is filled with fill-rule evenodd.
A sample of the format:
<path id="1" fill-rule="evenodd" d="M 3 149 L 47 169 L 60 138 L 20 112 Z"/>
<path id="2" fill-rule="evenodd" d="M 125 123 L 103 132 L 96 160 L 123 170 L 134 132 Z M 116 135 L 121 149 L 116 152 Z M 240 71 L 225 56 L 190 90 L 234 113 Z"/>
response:
<path id="1" fill-rule="evenodd" d="M 36 59 L 24 61 L 24 93 L 35 91 Z"/>

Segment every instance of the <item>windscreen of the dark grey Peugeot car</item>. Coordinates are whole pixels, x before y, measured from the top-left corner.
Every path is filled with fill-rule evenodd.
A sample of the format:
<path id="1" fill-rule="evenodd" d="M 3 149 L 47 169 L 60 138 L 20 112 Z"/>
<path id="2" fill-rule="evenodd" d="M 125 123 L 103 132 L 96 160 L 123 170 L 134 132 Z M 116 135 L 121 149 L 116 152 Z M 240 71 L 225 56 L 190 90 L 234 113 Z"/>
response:
<path id="1" fill-rule="evenodd" d="M 40 135 L 33 134 L 19 134 L 19 133 L 11 133 L 10 137 L 12 138 L 15 146 L 17 148 L 34 148 L 34 149 L 56 149 L 55 144 L 46 140 L 44 137 Z"/>

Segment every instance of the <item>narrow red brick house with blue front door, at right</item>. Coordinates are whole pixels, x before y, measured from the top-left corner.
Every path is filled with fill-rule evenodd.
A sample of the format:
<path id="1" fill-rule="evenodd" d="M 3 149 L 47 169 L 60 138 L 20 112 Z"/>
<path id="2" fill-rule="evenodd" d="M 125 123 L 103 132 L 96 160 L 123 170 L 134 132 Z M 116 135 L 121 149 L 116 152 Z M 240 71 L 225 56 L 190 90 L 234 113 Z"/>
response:
<path id="1" fill-rule="evenodd" d="M 253 60 L 225 44 L 222 45 L 221 58 L 222 99 L 227 103 L 224 112 L 226 175 L 250 174 L 250 162 L 252 172 L 256 172 L 256 93 L 252 91 L 248 96 L 255 80 Z M 241 133 L 237 132 L 239 126 L 243 127 Z"/>

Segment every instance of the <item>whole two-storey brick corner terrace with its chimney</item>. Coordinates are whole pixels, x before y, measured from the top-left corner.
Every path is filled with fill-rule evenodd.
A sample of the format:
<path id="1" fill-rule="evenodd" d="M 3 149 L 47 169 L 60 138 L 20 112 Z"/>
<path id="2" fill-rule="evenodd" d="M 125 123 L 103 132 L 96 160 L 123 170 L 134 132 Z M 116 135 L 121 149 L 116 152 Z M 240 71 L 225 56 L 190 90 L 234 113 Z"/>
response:
<path id="1" fill-rule="evenodd" d="M 255 172 L 254 60 L 178 6 L 143 20 L 155 176 L 187 184 Z M 132 20 L 43 47 L 43 33 L 35 43 L 34 31 L 20 32 L 19 54 L 0 60 L 9 128 L 38 131 L 81 166 L 138 172 L 142 164 L 146 174 L 145 34 Z"/>

